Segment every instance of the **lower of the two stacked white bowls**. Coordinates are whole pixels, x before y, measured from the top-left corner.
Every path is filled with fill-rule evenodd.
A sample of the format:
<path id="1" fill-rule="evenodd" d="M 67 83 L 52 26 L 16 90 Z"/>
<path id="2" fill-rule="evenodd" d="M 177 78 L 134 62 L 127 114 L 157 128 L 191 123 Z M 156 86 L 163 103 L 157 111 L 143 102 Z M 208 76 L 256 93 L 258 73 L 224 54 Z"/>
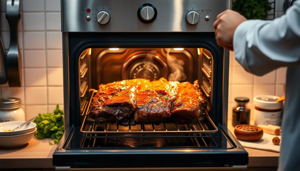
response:
<path id="1" fill-rule="evenodd" d="M 21 147 L 27 144 L 32 137 L 35 135 L 35 128 L 33 131 L 21 134 L 21 135 L 13 135 L 13 136 L 0 136 L 0 147 L 2 148 L 16 148 Z"/>

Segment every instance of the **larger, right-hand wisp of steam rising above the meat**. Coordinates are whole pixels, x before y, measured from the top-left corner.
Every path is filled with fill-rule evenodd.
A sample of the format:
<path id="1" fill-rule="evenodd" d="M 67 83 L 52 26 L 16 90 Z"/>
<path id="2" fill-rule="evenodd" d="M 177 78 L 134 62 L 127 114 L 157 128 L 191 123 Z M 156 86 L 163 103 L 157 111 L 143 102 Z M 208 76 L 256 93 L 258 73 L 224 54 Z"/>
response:
<path id="1" fill-rule="evenodd" d="M 175 56 L 170 55 L 171 49 L 167 49 L 167 63 L 172 69 L 172 73 L 169 75 L 169 81 L 181 81 L 185 80 L 186 75 L 184 74 L 183 65 L 184 61 L 177 59 Z"/>

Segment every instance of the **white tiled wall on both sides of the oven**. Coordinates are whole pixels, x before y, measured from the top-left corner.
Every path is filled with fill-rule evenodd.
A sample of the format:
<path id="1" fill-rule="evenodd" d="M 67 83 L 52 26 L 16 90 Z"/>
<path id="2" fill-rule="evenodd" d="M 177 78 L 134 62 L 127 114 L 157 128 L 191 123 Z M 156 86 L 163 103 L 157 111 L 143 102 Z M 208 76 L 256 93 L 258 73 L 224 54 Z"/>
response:
<path id="1" fill-rule="evenodd" d="M 5 19 L 5 0 L 1 0 L 1 37 L 5 49 L 9 46 L 9 27 Z M 276 16 L 283 14 L 283 0 L 276 0 Z M 19 46 L 23 58 L 23 87 L 1 85 L 1 97 L 19 97 L 26 118 L 53 111 L 56 104 L 63 107 L 62 37 L 60 0 L 22 0 L 22 19 L 19 22 Z M 281 96 L 286 68 L 262 77 L 247 73 L 230 52 L 229 117 L 234 98 L 272 94 Z M 250 106 L 253 106 L 250 104 Z"/>

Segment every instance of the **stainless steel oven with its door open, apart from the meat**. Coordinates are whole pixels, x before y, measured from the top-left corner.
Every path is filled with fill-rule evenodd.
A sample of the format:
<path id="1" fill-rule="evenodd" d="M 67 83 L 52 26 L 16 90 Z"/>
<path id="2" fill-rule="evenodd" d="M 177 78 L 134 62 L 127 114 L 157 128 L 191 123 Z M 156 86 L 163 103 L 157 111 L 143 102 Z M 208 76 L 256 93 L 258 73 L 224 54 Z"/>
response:
<path id="1" fill-rule="evenodd" d="M 248 154 L 227 129 L 229 52 L 212 27 L 230 7 L 230 0 L 62 0 L 65 133 L 56 169 L 246 169 Z M 195 122 L 121 126 L 87 115 L 99 84 L 172 76 L 199 80 L 208 105 Z"/>

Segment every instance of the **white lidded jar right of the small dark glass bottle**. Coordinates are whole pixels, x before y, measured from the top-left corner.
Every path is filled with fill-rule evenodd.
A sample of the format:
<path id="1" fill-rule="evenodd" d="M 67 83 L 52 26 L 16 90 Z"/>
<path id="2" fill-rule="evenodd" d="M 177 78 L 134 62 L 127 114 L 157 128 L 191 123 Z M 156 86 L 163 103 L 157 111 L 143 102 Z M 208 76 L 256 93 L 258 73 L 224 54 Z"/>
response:
<path id="1" fill-rule="evenodd" d="M 276 102 L 278 96 L 261 95 L 253 98 L 254 124 L 280 126 L 283 102 Z"/>

